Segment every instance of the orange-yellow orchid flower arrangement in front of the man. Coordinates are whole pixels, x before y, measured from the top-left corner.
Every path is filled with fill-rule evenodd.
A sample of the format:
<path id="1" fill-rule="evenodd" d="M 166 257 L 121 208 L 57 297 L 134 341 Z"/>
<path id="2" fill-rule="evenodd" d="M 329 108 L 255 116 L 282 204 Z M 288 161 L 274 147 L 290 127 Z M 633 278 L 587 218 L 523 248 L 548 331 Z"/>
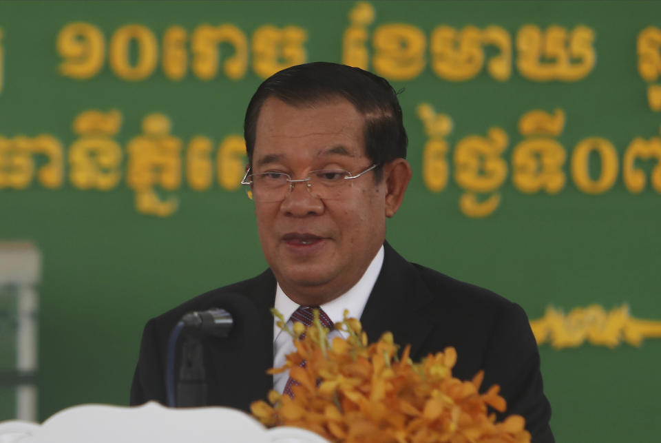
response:
<path id="1" fill-rule="evenodd" d="M 471 381 L 452 377 L 457 362 L 452 347 L 414 363 L 410 346 L 398 358 L 390 332 L 368 344 L 359 320 L 347 318 L 346 311 L 335 328 L 348 338 L 336 337 L 330 344 L 318 311 L 310 327 L 295 323 L 293 331 L 280 313 L 274 315 L 293 337 L 296 352 L 269 373 L 289 369 L 300 384 L 293 387 L 293 398 L 271 391 L 270 404 L 251 404 L 265 426 L 298 426 L 333 442 L 530 441 L 520 415 L 496 423 L 496 415 L 487 413 L 487 405 L 505 411 L 505 399 L 497 385 L 479 393 L 483 372 Z"/>

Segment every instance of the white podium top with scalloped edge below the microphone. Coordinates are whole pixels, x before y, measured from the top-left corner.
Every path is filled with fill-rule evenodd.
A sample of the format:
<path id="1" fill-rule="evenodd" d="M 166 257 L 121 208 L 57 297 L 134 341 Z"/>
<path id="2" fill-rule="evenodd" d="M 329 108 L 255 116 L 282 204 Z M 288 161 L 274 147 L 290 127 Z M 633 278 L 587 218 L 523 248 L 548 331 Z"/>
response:
<path id="1" fill-rule="evenodd" d="M 83 404 L 63 409 L 43 424 L 0 422 L 0 443 L 327 443 L 319 435 L 289 426 L 266 429 L 236 409 L 172 409 L 149 402 L 124 407 Z"/>

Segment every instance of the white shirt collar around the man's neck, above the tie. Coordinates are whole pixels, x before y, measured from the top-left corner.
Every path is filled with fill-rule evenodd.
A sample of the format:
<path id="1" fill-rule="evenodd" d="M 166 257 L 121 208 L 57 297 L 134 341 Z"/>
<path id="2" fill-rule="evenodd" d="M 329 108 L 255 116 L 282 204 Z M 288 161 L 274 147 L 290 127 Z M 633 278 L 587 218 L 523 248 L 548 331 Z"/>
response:
<path id="1" fill-rule="evenodd" d="M 341 322 L 344 318 L 344 310 L 349 311 L 349 317 L 360 318 L 367 305 L 367 299 L 370 297 L 370 293 L 374 288 L 377 278 L 379 278 L 379 273 L 381 272 L 381 266 L 384 265 L 384 247 L 381 246 L 377 255 L 372 259 L 370 265 L 367 267 L 365 274 L 356 282 L 351 289 L 346 291 L 342 296 L 330 300 L 328 303 L 324 303 L 321 308 L 324 310 L 328 318 L 333 321 L 333 323 Z M 291 314 L 298 309 L 300 305 L 291 300 L 282 288 L 280 284 L 277 284 L 275 287 L 275 309 L 282 313 L 282 316 L 285 320 L 288 320 L 291 317 Z M 273 320 L 273 340 L 277 338 L 280 333 L 280 328 L 275 324 L 277 319 Z"/>

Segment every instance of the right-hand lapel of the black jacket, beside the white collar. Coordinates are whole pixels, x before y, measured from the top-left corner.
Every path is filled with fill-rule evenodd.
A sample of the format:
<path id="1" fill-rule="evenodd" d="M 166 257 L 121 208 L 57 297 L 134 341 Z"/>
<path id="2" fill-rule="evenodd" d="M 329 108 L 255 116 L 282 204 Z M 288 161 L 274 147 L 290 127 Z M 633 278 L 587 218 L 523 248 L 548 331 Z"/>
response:
<path id="1" fill-rule="evenodd" d="M 391 331 L 402 350 L 410 344 L 411 356 L 417 356 L 432 329 L 432 313 L 425 309 L 432 293 L 413 265 L 387 242 L 384 248 L 384 265 L 360 318 L 361 324 L 370 342 Z"/>

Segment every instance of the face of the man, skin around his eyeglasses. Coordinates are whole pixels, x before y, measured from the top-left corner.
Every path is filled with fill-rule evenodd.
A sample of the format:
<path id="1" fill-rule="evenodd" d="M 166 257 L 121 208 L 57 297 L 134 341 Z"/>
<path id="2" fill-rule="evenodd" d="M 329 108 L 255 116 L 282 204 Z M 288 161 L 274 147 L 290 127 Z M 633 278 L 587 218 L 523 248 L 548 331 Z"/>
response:
<path id="1" fill-rule="evenodd" d="M 357 174 L 372 165 L 365 153 L 364 118 L 344 99 L 292 107 L 273 97 L 260 110 L 253 173 L 306 178 L 317 169 Z M 264 256 L 295 302 L 317 305 L 350 289 L 386 236 L 386 189 L 374 172 L 347 181 L 342 198 L 315 198 L 297 183 L 284 200 L 255 200 Z M 396 210 L 396 209 L 395 209 Z"/>

